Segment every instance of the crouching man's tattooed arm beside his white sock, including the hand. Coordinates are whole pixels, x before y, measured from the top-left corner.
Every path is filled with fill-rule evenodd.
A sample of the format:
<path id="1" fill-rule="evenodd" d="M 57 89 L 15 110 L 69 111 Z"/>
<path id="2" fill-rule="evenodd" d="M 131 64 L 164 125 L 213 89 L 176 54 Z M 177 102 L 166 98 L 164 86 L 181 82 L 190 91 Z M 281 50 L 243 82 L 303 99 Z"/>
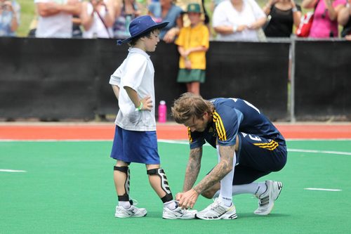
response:
<path id="1" fill-rule="evenodd" d="M 188 190 L 185 193 L 177 195 L 180 207 L 194 207 L 197 197 L 211 188 L 214 184 L 218 183 L 225 175 L 227 175 L 233 169 L 233 157 L 234 157 L 235 145 L 230 146 L 219 146 L 220 162 L 213 168 L 213 170 L 205 176 L 194 188 Z M 189 166 L 189 164 L 188 164 Z M 196 180 L 196 178 L 195 178 Z M 184 185 L 185 186 L 185 185 Z M 187 186 L 190 186 L 187 185 Z"/>

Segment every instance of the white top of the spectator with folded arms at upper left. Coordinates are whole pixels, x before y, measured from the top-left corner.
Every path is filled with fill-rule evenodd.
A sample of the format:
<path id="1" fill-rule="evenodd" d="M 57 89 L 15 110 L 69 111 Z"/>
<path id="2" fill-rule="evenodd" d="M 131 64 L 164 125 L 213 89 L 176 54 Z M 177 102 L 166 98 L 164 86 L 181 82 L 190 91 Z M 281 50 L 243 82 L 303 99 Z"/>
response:
<path id="1" fill-rule="evenodd" d="M 67 0 L 34 0 L 34 4 L 55 2 L 57 4 L 67 4 Z M 36 37 L 72 37 L 72 15 L 58 13 L 42 17 L 39 15 Z"/>

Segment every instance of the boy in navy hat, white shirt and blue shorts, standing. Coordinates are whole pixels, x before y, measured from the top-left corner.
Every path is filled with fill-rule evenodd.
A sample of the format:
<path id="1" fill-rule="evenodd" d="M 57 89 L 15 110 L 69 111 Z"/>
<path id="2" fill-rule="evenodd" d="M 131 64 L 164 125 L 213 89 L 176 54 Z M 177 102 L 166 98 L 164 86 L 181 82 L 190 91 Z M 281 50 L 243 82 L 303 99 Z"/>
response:
<path id="1" fill-rule="evenodd" d="M 129 53 L 112 74 L 110 84 L 119 102 L 116 131 L 111 157 L 117 160 L 114 167 L 114 184 L 119 203 L 115 216 L 119 218 L 143 217 L 146 209 L 133 205 L 129 197 L 129 164 L 146 165 L 150 185 L 164 203 L 164 219 L 193 219 L 196 211 L 180 209 L 173 200 L 164 169 L 160 167 L 157 152 L 156 120 L 154 117 L 154 67 L 146 52 L 155 51 L 159 30 L 168 22 L 156 23 L 149 15 L 131 21 L 131 37 L 118 41 L 128 43 Z"/>

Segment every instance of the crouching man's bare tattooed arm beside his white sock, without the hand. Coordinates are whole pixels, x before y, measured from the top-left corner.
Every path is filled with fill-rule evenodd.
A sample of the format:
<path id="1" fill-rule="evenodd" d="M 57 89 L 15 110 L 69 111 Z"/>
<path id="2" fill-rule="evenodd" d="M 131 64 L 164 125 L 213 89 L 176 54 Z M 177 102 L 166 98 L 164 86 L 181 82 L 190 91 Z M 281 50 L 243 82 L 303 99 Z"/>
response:
<path id="1" fill-rule="evenodd" d="M 194 190 L 201 194 L 211 188 L 233 169 L 234 145 L 220 146 L 220 162 L 203 178 Z"/>

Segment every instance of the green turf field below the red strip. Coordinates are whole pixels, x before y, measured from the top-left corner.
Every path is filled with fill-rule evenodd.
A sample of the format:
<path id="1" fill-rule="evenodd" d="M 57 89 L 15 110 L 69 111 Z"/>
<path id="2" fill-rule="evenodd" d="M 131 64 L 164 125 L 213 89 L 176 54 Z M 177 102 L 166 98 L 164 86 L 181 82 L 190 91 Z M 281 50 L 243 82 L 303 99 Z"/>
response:
<path id="1" fill-rule="evenodd" d="M 289 141 L 294 151 L 289 152 L 286 167 L 265 177 L 284 183 L 272 214 L 256 216 L 257 199 L 238 195 L 234 197 L 238 219 L 225 221 L 161 219 L 161 201 L 140 164 L 131 166 L 131 197 L 148 214 L 114 218 L 117 196 L 111 145 L 106 141 L 0 142 L 0 169 L 26 171 L 0 171 L 0 233 L 350 233 L 351 141 Z M 174 194 L 183 186 L 188 148 L 159 143 Z M 205 146 L 200 176 L 216 158 L 216 151 Z M 211 202 L 200 197 L 195 208 L 204 209 Z"/>

